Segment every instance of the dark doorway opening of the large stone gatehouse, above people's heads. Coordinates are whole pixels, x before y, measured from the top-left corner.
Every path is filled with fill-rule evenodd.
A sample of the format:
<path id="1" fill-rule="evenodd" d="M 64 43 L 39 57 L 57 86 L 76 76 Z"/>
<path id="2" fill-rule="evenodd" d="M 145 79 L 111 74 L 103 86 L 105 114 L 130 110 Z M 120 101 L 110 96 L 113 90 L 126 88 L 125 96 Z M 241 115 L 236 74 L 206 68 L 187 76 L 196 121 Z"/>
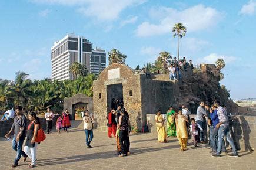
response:
<path id="1" fill-rule="evenodd" d="M 123 87 L 122 84 L 112 84 L 107 86 L 107 108 L 108 111 L 112 107 L 112 100 L 115 101 L 124 99 L 123 97 Z"/>

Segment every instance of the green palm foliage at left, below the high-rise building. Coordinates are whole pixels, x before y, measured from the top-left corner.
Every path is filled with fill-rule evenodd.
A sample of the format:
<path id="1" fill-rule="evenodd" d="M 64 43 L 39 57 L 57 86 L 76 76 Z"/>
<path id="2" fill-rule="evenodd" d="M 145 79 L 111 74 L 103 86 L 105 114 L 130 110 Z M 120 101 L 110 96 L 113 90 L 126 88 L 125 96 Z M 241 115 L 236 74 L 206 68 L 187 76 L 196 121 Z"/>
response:
<path id="1" fill-rule="evenodd" d="M 95 75 L 78 75 L 75 80 L 31 81 L 28 79 L 28 74 L 17 72 L 14 81 L 0 79 L 0 110 L 5 110 L 8 106 L 21 105 L 25 110 L 40 113 L 45 111 L 47 106 L 60 109 L 64 98 L 78 93 L 92 97 L 92 83 L 96 79 Z"/>

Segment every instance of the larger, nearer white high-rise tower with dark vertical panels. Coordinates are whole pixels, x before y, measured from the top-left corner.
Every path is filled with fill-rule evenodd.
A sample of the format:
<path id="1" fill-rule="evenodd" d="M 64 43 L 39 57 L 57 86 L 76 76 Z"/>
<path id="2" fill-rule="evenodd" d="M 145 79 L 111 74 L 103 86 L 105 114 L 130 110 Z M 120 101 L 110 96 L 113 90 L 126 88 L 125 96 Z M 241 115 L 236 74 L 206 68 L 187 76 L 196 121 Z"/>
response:
<path id="1" fill-rule="evenodd" d="M 90 60 L 91 54 L 92 43 L 84 37 L 68 34 L 55 42 L 51 47 L 52 80 L 73 79 L 68 69 L 74 62 L 84 64 L 90 73 L 98 74 L 91 72 L 90 66 L 94 65 Z"/>

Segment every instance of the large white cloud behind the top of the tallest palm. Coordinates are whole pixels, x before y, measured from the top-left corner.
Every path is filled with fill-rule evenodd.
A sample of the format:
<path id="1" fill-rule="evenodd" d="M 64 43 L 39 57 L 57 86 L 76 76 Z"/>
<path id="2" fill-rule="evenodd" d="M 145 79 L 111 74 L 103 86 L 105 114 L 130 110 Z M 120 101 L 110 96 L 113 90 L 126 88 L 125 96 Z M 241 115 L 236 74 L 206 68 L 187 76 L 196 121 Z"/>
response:
<path id="1" fill-rule="evenodd" d="M 196 5 L 191 8 L 177 11 L 173 8 L 152 8 L 149 16 L 159 23 L 143 22 L 135 30 L 137 36 L 153 36 L 171 33 L 172 26 L 177 22 L 183 23 L 189 32 L 212 28 L 222 18 L 222 13 L 214 8 Z"/>

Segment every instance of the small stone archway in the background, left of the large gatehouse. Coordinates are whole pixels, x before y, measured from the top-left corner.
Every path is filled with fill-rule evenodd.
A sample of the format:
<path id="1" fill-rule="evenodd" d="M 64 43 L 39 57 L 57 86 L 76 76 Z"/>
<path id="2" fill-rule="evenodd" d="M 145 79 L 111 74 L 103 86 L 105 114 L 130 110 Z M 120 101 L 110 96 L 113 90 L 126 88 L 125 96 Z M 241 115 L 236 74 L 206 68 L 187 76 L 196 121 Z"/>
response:
<path id="1" fill-rule="evenodd" d="M 68 108 L 71 114 L 71 120 L 75 120 L 75 110 L 77 107 L 84 107 L 92 113 L 94 110 L 92 97 L 88 97 L 85 94 L 75 94 L 71 98 L 64 98 L 63 104 L 64 110 Z"/>

